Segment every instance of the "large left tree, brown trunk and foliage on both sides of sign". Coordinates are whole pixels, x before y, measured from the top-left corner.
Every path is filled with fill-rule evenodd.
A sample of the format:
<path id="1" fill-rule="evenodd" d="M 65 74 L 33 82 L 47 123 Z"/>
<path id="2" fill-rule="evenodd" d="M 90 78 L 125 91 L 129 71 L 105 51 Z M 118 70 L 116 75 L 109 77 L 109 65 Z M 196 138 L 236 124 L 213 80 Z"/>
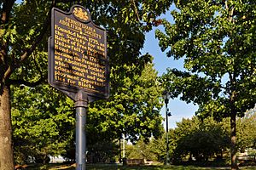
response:
<path id="1" fill-rule="evenodd" d="M 35 87 L 46 82 L 45 60 L 39 55 L 47 51 L 49 16 L 52 7 L 67 10 L 75 1 L 43 0 L 0 2 L 0 161 L 3 169 L 14 169 L 10 86 Z M 94 1 L 81 4 L 91 11 L 92 20 L 108 31 L 108 55 L 113 74 L 122 77 L 122 65 L 142 68 L 148 60 L 140 59 L 144 33 L 158 25 L 156 17 L 169 8 L 170 1 Z M 38 56 L 34 59 L 32 56 Z M 44 60 L 44 62 L 38 62 Z M 112 88 L 119 87 L 113 80 Z"/>

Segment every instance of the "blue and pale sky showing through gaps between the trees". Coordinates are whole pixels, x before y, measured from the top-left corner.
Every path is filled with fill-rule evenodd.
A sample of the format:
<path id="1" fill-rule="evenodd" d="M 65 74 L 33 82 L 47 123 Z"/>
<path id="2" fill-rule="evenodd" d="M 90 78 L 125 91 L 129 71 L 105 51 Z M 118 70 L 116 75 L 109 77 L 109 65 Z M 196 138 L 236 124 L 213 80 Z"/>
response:
<path id="1" fill-rule="evenodd" d="M 160 18 L 166 18 L 166 20 L 173 22 L 172 16 L 170 12 L 163 14 Z M 144 48 L 141 50 L 142 54 L 151 54 L 154 57 L 154 69 L 158 71 L 158 76 L 161 76 L 166 69 L 169 68 L 177 68 L 178 70 L 183 69 L 183 61 L 182 60 L 173 60 L 172 58 L 166 57 L 166 52 L 162 52 L 159 47 L 159 41 L 154 36 L 154 31 L 156 29 L 160 29 L 160 31 L 164 31 L 163 26 L 158 26 L 154 28 L 152 31 L 149 31 L 146 34 L 146 41 L 144 44 Z M 168 118 L 168 127 L 174 128 L 176 127 L 176 122 L 181 122 L 183 118 L 191 118 L 195 116 L 195 111 L 197 111 L 198 106 L 193 104 L 187 104 L 186 102 L 180 99 L 170 99 L 168 104 L 169 111 L 172 112 L 172 116 Z M 164 127 L 166 129 L 166 106 L 164 105 L 160 111 L 160 114 L 165 118 L 165 122 L 163 122 Z"/>

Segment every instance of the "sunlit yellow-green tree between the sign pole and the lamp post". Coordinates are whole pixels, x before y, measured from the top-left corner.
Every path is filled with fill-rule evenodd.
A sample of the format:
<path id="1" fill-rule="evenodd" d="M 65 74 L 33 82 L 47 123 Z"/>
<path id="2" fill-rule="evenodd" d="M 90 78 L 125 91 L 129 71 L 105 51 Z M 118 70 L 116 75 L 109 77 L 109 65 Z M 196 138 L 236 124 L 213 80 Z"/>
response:
<path id="1" fill-rule="evenodd" d="M 115 89 L 113 96 L 108 101 L 98 101 L 90 106 L 88 145 L 96 141 L 114 142 L 121 134 L 132 143 L 138 139 L 148 141 L 152 135 L 158 138 L 163 132 L 160 116 L 162 88 L 157 84 L 153 64 L 148 63 L 141 75 L 133 77 L 127 75 L 134 74 L 137 66 L 126 65 L 124 68 L 127 69 L 125 77 L 119 80 L 123 84 Z"/>

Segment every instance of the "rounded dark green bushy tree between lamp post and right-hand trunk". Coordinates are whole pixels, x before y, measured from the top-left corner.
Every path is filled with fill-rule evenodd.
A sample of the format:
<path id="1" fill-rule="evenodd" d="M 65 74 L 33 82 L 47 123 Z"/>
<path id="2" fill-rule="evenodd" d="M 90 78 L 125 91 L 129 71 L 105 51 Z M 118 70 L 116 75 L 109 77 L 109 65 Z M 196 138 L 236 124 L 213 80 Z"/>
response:
<path id="1" fill-rule="evenodd" d="M 208 161 L 214 156 L 222 158 L 230 144 L 225 122 L 215 122 L 212 117 L 201 122 L 196 116 L 177 122 L 174 158 L 189 156 L 191 159 L 194 156 L 196 161 Z"/>

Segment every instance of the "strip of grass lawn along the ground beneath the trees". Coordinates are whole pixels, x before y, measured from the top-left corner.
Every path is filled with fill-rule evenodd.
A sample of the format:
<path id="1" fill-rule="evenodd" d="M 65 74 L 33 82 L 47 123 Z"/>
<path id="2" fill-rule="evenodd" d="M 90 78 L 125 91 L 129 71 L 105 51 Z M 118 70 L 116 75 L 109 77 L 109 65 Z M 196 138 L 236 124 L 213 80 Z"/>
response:
<path id="1" fill-rule="evenodd" d="M 47 164 L 44 166 L 31 165 L 26 169 L 28 170 L 75 170 L 73 165 L 61 165 L 61 164 Z M 195 166 L 121 166 L 115 164 L 93 164 L 87 165 L 86 170 L 217 170 L 217 169 L 230 169 L 230 167 L 195 167 Z M 256 170 L 256 167 L 240 167 L 243 170 Z"/>

